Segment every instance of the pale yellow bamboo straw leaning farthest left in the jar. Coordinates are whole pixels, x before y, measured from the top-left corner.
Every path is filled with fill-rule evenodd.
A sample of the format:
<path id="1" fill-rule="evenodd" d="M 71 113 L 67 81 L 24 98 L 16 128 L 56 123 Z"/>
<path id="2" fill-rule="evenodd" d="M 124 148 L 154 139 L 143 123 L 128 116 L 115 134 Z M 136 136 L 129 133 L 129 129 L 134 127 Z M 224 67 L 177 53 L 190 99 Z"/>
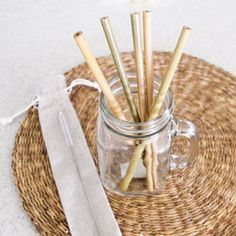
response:
<path id="1" fill-rule="evenodd" d="M 102 92 L 106 96 L 112 111 L 114 112 L 114 114 L 118 118 L 120 118 L 122 120 L 126 120 L 124 114 L 122 113 L 122 109 L 121 109 L 119 103 L 117 102 L 115 96 L 113 95 L 95 57 L 93 56 L 92 52 L 90 51 L 90 49 L 87 45 L 86 40 L 84 39 L 83 32 L 80 31 L 80 32 L 75 33 L 74 38 L 80 48 L 81 53 L 84 56 L 84 59 L 86 60 L 89 68 L 93 72 L 95 79 L 97 80 Z"/>

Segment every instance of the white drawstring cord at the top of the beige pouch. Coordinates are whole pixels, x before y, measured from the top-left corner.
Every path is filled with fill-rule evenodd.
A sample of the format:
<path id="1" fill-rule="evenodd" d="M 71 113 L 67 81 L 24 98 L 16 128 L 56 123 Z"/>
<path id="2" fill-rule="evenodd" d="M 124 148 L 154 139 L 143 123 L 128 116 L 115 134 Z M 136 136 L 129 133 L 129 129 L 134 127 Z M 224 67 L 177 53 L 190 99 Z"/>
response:
<path id="1" fill-rule="evenodd" d="M 65 89 L 66 93 L 67 94 L 70 94 L 72 92 L 72 90 L 77 87 L 78 85 L 84 85 L 84 86 L 88 86 L 88 87 L 91 87 L 91 88 L 94 88 L 96 90 L 98 90 L 98 92 L 100 93 L 101 92 L 101 89 L 98 85 L 98 83 L 96 82 L 92 82 L 92 81 L 89 81 L 87 79 L 76 79 L 76 80 L 73 80 L 71 82 L 71 84 Z M 32 99 L 33 97 L 33 99 Z M 27 112 L 31 107 L 37 107 L 39 105 L 39 102 L 40 102 L 40 98 L 37 97 L 37 96 L 31 96 L 31 102 L 28 106 L 26 106 L 25 108 L 23 108 L 22 110 L 20 110 L 19 112 L 15 113 L 14 115 L 12 116 L 9 116 L 9 117 L 0 117 L 0 125 L 9 125 L 11 123 L 13 123 L 13 121 L 23 115 L 25 112 Z"/>

